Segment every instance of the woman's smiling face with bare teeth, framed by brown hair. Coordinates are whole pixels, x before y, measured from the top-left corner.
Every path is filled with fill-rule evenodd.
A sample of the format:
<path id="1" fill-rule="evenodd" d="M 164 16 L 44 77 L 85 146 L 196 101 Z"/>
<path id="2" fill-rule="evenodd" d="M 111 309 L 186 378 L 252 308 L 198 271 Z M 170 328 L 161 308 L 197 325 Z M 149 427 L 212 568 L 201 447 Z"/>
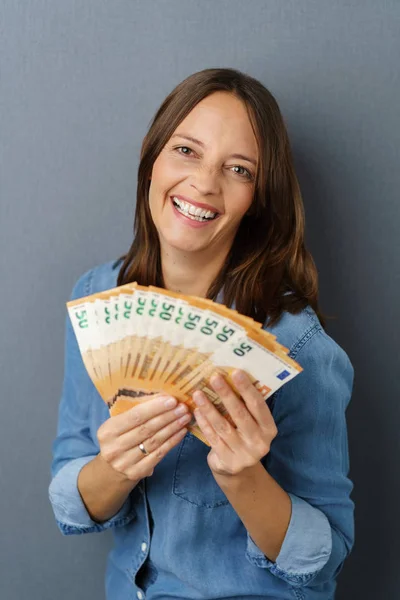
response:
<path id="1" fill-rule="evenodd" d="M 199 102 L 153 165 L 149 202 L 161 247 L 228 252 L 254 195 L 257 142 L 227 92 Z"/>

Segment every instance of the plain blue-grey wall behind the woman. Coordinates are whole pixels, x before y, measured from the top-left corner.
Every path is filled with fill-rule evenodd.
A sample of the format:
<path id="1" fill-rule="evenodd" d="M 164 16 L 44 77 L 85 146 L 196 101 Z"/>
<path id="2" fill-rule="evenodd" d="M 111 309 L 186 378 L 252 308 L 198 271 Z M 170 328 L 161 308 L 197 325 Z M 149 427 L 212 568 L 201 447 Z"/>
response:
<path id="1" fill-rule="evenodd" d="M 398 598 L 400 3 L 0 0 L 0 597 L 98 600 L 110 538 L 47 500 L 64 302 L 131 240 L 139 147 L 190 73 L 275 94 L 329 332 L 349 353 L 357 541 L 340 600 Z M 123 599 L 121 599 L 123 600 Z"/>

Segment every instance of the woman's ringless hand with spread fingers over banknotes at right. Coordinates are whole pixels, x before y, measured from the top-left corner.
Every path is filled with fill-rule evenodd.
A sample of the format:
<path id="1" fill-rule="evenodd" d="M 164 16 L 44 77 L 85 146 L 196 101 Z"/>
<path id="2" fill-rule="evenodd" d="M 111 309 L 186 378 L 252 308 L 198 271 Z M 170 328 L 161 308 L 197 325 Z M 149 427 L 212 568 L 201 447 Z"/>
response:
<path id="1" fill-rule="evenodd" d="M 197 424 L 211 445 L 207 461 L 213 474 L 232 476 L 256 465 L 268 454 L 278 431 L 265 400 L 243 371 L 232 373 L 232 380 L 242 399 L 221 375 L 210 383 L 229 412 L 233 427 L 223 417 L 207 396 L 193 393 L 197 405 L 194 411 Z"/>

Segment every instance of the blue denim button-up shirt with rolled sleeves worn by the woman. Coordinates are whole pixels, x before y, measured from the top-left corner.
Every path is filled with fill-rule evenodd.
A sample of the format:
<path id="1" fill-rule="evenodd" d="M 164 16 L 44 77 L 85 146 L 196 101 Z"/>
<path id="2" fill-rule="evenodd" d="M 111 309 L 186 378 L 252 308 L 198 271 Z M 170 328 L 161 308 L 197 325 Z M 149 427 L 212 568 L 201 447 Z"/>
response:
<path id="1" fill-rule="evenodd" d="M 92 269 L 78 280 L 72 298 L 115 287 L 117 274 L 113 263 Z M 345 421 L 353 368 L 309 307 L 297 315 L 285 312 L 269 330 L 304 369 L 268 401 L 278 435 L 262 463 L 292 503 L 275 562 L 251 539 L 208 467 L 210 449 L 191 433 L 114 517 L 101 524 L 90 518 L 77 477 L 98 454 L 97 430 L 109 413 L 67 317 L 49 496 L 63 534 L 112 529 L 108 600 L 334 597 L 354 536 Z"/>

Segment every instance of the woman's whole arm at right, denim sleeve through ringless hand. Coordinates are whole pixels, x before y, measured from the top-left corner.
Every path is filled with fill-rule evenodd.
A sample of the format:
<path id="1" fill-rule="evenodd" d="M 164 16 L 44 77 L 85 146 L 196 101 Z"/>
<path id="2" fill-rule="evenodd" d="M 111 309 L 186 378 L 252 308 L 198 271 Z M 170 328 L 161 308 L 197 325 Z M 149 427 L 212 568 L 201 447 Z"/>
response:
<path id="1" fill-rule="evenodd" d="M 213 447 L 208 462 L 214 477 L 248 531 L 247 558 L 301 586 L 334 578 L 353 543 L 345 422 L 353 369 L 320 329 L 299 347 L 293 357 L 304 372 L 276 394 L 278 435 L 269 452 L 274 432 L 268 415 L 254 393 L 245 393 L 236 382 L 258 427 L 247 411 L 235 408 L 234 399 L 222 394 L 244 433 L 237 438 L 229 432 L 211 406 L 202 411 L 214 427 L 207 429 L 206 421 L 197 420 Z M 254 459 L 257 453 L 262 456 L 263 440 L 262 464 Z"/>

